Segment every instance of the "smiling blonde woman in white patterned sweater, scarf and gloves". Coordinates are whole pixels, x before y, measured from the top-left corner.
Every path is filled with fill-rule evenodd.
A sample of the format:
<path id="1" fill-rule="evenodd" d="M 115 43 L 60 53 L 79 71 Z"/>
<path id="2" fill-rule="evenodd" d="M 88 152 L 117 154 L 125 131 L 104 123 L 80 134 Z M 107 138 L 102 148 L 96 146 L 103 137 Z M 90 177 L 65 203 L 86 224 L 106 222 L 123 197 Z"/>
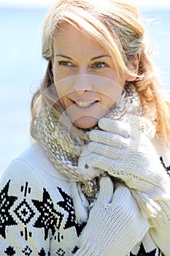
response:
<path id="1" fill-rule="evenodd" d="M 144 33 L 130 1 L 48 13 L 34 140 L 1 176 L 1 255 L 170 255 L 169 103 Z"/>

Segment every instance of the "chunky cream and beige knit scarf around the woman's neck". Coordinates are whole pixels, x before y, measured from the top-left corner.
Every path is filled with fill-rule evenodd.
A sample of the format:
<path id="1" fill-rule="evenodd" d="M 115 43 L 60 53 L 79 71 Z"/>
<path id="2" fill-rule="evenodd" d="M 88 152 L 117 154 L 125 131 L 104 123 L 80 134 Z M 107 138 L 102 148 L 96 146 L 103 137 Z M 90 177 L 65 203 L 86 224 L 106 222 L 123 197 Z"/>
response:
<path id="1" fill-rule="evenodd" d="M 136 115 L 139 116 L 140 122 L 139 118 L 137 118 L 138 121 L 136 122 L 136 118 L 134 118 Z M 125 91 L 123 91 L 123 94 L 117 100 L 115 107 L 109 112 L 107 118 L 127 122 L 128 118 L 131 118 L 131 125 L 134 125 L 136 129 L 140 129 L 150 139 L 155 136 L 155 117 L 153 114 L 150 116 L 150 113 L 143 115 L 139 96 L 131 85 L 125 87 Z M 95 127 L 94 129 L 99 128 Z M 82 202 L 82 206 L 85 207 L 87 206 L 87 200 L 84 200 L 85 197 L 90 201 L 95 200 L 99 189 L 99 178 L 96 177 L 88 181 L 77 171 L 79 157 L 83 146 L 87 145 L 88 140 L 80 138 L 70 127 L 63 125 L 61 118 L 57 118 L 55 111 L 45 102 L 42 102 L 38 113 L 35 134 L 36 140 L 39 140 L 42 147 L 45 148 L 47 156 L 54 163 L 55 167 L 65 174 L 69 181 L 75 181 L 74 184 L 79 185 L 79 192 L 73 195 L 73 200 L 74 197 L 81 194 L 81 200 L 78 201 Z M 82 206 L 75 206 L 75 208 L 78 208 L 77 212 Z"/>

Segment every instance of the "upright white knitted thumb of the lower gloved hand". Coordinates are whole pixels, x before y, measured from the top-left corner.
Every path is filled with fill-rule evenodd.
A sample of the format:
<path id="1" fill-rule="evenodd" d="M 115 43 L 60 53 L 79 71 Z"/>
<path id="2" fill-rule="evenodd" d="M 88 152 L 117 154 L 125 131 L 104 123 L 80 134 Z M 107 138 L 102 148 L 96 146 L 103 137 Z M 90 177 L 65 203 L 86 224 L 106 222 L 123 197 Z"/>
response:
<path id="1" fill-rule="evenodd" d="M 114 186 L 111 178 L 104 176 L 100 180 L 100 189 L 98 192 L 97 203 L 111 203 L 114 192 Z"/>

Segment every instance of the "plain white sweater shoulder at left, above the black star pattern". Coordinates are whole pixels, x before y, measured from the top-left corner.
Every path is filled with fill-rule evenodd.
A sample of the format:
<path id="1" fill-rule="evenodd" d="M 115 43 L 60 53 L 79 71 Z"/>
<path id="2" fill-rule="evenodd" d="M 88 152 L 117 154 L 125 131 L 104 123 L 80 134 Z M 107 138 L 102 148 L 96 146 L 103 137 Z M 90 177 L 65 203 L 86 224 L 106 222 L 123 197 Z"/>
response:
<path id="1" fill-rule="evenodd" d="M 13 189 L 30 184 L 37 191 L 52 191 L 52 187 L 61 187 L 69 193 L 68 178 L 55 168 L 38 143 L 33 143 L 17 159 L 13 159 L 1 174 L 0 181 L 1 187 L 9 182 Z"/>

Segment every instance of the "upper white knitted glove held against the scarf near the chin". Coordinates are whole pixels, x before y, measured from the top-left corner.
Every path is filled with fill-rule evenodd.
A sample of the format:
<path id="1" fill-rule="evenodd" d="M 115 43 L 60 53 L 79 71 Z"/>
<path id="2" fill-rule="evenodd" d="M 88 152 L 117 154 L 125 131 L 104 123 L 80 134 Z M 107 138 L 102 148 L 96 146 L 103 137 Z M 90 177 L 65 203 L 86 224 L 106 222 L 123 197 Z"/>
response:
<path id="1" fill-rule="evenodd" d="M 150 140 L 121 121 L 101 118 L 98 126 L 101 130 L 89 133 L 93 142 L 85 148 L 83 161 L 80 159 L 83 175 L 93 178 L 105 171 L 120 178 L 131 188 L 139 206 L 144 208 L 145 204 L 152 227 L 169 223 L 170 179 Z"/>

